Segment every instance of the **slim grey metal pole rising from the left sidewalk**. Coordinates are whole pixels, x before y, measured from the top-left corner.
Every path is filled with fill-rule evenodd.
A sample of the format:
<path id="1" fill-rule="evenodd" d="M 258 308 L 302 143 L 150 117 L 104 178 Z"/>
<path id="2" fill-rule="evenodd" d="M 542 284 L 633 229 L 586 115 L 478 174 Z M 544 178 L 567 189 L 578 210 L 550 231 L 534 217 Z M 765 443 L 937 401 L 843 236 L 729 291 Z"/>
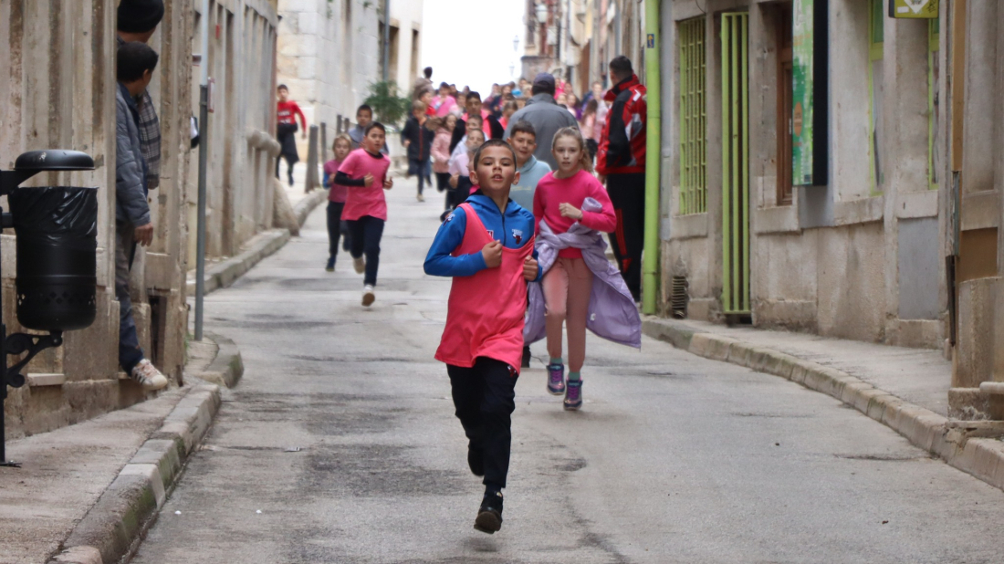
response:
<path id="1" fill-rule="evenodd" d="M 199 202 L 196 213 L 195 340 L 202 340 L 206 296 L 206 173 L 209 158 L 209 0 L 202 0 L 202 81 L 199 88 Z"/>

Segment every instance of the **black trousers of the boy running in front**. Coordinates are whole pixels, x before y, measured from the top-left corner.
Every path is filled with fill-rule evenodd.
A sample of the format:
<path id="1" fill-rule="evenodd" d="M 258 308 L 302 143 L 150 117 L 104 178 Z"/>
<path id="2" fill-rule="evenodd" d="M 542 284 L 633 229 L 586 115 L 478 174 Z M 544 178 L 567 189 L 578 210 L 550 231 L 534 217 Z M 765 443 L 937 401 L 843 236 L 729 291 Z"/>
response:
<path id="1" fill-rule="evenodd" d="M 453 404 L 470 448 L 481 450 L 485 486 L 505 488 L 516 409 L 516 370 L 494 358 L 478 357 L 474 366 L 448 364 Z"/>

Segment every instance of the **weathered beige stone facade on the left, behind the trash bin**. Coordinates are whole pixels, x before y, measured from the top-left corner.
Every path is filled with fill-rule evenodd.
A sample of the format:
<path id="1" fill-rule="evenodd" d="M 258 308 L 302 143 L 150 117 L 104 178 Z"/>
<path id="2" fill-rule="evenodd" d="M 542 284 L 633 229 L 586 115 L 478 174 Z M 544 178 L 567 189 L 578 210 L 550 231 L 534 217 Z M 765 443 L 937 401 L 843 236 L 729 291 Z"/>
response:
<path id="1" fill-rule="evenodd" d="M 93 172 L 43 174 L 33 186 L 98 187 L 97 316 L 93 325 L 64 335 L 23 370 L 28 383 L 8 388 L 7 438 L 50 431 L 146 398 L 117 366 L 118 302 L 114 298 L 115 210 L 115 0 L 0 0 L 0 167 L 18 155 L 67 149 L 93 157 Z M 203 52 L 195 33 L 192 0 L 168 0 L 150 45 L 160 53 L 150 91 L 161 122 L 160 187 L 150 193 L 154 243 L 139 250 L 132 270 L 133 304 L 148 357 L 179 381 L 185 365 L 188 307 L 185 277 L 195 225 L 196 177 L 191 118 L 198 115 L 193 52 Z M 271 92 L 277 15 L 274 0 L 210 3 L 217 30 L 204 61 L 216 82 L 215 112 L 208 130 L 213 164 L 208 186 L 211 255 L 230 254 L 272 220 L 274 161 L 268 139 L 274 121 Z M 196 37 L 193 43 L 193 37 Z M 221 95 L 221 92 L 223 95 Z M 254 137 L 255 140 L 249 140 Z M 274 140 L 271 142 L 274 144 Z M 265 198 L 263 191 L 267 191 Z M 266 205 L 267 202 L 267 205 Z M 260 204 L 260 205 L 259 205 Z M 15 317 L 15 237 L 0 236 L 3 251 L 3 320 Z"/>

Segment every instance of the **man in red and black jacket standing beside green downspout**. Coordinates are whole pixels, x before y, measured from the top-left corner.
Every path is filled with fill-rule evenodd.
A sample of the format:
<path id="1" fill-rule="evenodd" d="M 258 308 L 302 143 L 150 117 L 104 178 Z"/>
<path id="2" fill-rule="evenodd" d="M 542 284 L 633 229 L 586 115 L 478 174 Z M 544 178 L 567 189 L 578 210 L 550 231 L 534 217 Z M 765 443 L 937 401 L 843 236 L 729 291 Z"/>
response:
<path id="1" fill-rule="evenodd" d="M 610 234 L 613 255 L 635 301 L 642 300 L 642 250 L 645 248 L 645 148 L 648 106 L 646 88 L 639 82 L 631 60 L 610 61 L 610 88 L 603 99 L 610 102 L 599 137 L 596 173 L 606 179 L 617 216 Z"/>

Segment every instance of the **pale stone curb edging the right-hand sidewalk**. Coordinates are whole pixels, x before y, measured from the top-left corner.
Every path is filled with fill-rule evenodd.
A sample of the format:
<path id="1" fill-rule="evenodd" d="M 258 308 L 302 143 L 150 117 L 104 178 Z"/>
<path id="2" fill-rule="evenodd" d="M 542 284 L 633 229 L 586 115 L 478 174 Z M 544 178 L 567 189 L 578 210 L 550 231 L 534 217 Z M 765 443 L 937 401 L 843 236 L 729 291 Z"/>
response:
<path id="1" fill-rule="evenodd" d="M 980 437 L 985 431 L 981 424 L 986 421 L 951 420 L 835 368 L 723 335 L 695 332 L 670 319 L 646 317 L 642 330 L 698 356 L 781 376 L 826 393 L 949 465 L 1004 490 L 1004 442 Z"/>

